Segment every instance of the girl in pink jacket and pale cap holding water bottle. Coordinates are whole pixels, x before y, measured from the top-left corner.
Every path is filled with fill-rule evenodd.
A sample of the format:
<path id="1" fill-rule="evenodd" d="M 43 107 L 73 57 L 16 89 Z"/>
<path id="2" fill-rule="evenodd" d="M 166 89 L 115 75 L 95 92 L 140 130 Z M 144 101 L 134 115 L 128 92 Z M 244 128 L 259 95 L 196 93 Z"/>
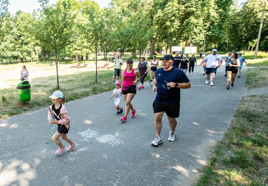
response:
<path id="1" fill-rule="evenodd" d="M 70 144 L 70 147 L 67 149 L 69 152 L 75 149 L 77 144 L 73 142 L 71 138 L 67 137 L 67 133 L 70 129 L 70 117 L 66 107 L 63 105 L 65 96 L 61 91 L 55 91 L 50 98 L 54 104 L 49 106 L 47 119 L 50 124 L 58 124 L 58 130 L 52 136 L 52 140 L 59 146 L 58 150 L 55 152 L 55 154 L 59 155 L 66 150 L 66 146 L 58 139 L 60 136 L 62 140 L 65 140 Z M 55 120 L 52 120 L 52 116 L 54 116 Z"/>

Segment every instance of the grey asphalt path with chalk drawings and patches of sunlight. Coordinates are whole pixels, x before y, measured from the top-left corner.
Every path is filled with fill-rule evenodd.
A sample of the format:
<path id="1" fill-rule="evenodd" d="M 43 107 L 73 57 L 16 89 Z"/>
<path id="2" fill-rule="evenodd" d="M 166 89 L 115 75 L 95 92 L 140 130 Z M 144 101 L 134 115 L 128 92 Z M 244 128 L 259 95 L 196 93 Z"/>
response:
<path id="1" fill-rule="evenodd" d="M 108 99 L 112 90 L 66 103 L 68 136 L 78 147 L 61 155 L 55 154 L 58 147 L 51 140 L 56 128 L 49 127 L 48 108 L 0 120 L 0 186 L 191 185 L 245 95 L 246 69 L 227 90 L 224 65 L 213 87 L 205 84 L 202 67 L 195 67 L 189 76 L 192 87 L 181 90 L 176 140 L 167 140 L 170 128 L 164 114 L 159 146 L 151 145 L 156 92 L 148 81 L 132 100 L 136 117 L 129 113 L 125 123 L 120 121 L 123 114 L 115 115 L 114 100 Z M 120 106 L 125 108 L 125 102 Z"/>

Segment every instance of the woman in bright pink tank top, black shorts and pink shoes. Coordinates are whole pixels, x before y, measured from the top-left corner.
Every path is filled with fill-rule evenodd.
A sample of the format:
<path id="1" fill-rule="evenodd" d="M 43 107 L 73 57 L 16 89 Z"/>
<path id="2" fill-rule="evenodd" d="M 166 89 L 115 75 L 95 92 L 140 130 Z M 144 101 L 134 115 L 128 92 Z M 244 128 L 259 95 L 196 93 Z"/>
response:
<path id="1" fill-rule="evenodd" d="M 135 69 L 133 69 L 132 59 L 128 59 L 126 64 L 127 64 L 127 69 L 123 73 L 123 77 L 122 77 L 123 86 L 121 89 L 121 94 L 123 94 L 124 100 L 126 102 L 125 115 L 123 118 L 120 119 L 123 122 L 127 121 L 129 110 L 131 110 L 132 118 L 136 116 L 136 109 L 133 108 L 131 100 L 134 98 L 136 94 L 136 91 L 137 91 L 136 85 L 138 81 L 140 80 L 139 71 L 136 71 Z"/>

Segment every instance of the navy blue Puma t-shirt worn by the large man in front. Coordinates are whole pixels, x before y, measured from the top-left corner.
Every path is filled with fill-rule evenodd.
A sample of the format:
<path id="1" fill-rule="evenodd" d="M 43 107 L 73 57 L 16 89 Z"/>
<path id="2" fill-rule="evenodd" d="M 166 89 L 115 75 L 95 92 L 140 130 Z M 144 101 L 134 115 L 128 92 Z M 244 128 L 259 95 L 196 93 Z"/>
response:
<path id="1" fill-rule="evenodd" d="M 170 87 L 167 90 L 167 83 L 187 83 L 188 77 L 185 73 L 176 67 L 172 67 L 169 71 L 164 71 L 163 68 L 159 68 L 155 72 L 155 78 L 157 80 L 157 94 L 155 100 L 165 105 L 178 105 L 181 100 L 181 89 L 177 87 Z"/>

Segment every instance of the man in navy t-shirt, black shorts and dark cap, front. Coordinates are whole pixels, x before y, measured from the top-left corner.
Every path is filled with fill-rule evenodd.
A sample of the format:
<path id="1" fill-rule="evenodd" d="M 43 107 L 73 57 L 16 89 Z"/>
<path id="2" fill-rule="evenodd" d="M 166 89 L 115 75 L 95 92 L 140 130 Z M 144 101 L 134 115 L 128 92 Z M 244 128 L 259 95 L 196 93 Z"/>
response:
<path id="1" fill-rule="evenodd" d="M 151 144 L 156 146 L 162 143 L 160 131 L 162 117 L 165 112 L 170 126 L 168 140 L 175 140 L 176 118 L 180 114 L 181 89 L 191 88 L 191 83 L 185 73 L 181 69 L 172 66 L 174 62 L 173 56 L 166 55 L 160 60 L 162 60 L 163 68 L 156 70 L 153 87 L 153 91 L 157 91 L 153 102 L 156 137 Z"/>

